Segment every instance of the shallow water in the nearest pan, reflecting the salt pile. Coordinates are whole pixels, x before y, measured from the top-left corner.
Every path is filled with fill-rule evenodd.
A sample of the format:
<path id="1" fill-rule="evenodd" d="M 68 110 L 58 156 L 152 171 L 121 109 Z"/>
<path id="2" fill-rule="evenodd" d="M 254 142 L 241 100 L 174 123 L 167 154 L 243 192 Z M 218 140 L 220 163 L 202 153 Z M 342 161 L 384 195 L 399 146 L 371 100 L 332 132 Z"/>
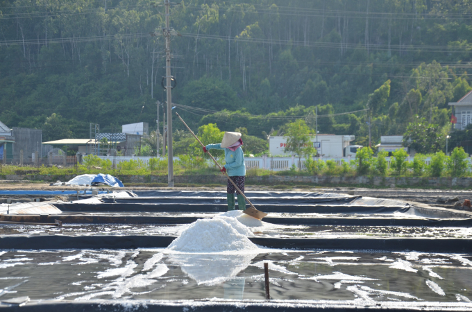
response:
<path id="1" fill-rule="evenodd" d="M 469 302 L 472 254 L 261 250 L 3 250 L 1 299 L 263 299 L 262 263 L 280 300 Z M 470 308 L 472 308 L 472 303 Z"/>

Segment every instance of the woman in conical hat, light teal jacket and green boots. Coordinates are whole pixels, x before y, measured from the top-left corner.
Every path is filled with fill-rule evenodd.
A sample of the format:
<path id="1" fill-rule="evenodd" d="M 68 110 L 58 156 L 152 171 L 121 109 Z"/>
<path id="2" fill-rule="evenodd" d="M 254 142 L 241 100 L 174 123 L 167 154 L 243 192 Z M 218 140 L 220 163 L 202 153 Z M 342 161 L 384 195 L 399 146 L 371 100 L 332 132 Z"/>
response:
<path id="1" fill-rule="evenodd" d="M 207 153 L 208 150 L 224 150 L 224 156 L 226 164 L 222 173 L 228 171 L 228 175 L 233 182 L 239 187 L 239 189 L 244 193 L 244 180 L 246 176 L 246 164 L 244 164 L 244 155 L 242 153 L 242 139 L 241 133 L 239 132 L 225 132 L 221 144 L 208 144 L 203 147 L 203 152 Z M 235 209 L 235 191 L 236 188 L 233 183 L 228 180 L 226 186 L 226 197 L 228 198 L 228 210 Z M 237 192 L 237 207 L 239 210 L 246 209 L 246 200 L 244 196 Z"/>

